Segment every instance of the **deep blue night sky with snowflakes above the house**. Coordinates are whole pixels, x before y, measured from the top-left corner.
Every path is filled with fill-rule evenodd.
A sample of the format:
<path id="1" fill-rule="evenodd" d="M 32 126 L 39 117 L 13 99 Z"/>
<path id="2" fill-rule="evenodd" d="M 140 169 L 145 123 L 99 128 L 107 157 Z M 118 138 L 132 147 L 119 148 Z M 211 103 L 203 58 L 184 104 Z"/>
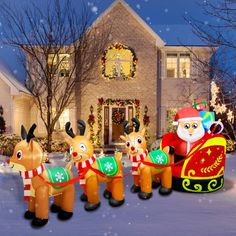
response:
<path id="1" fill-rule="evenodd" d="M 8 0 L 0 0 L 4 2 Z M 49 0 L 34 0 L 43 6 Z M 192 33 L 191 27 L 184 17 L 200 19 L 206 24 L 211 19 L 203 15 L 200 4 L 205 0 L 126 0 L 126 2 L 142 17 L 142 19 L 168 44 L 168 45 L 201 45 L 202 42 Z M 19 10 L 28 0 L 11 0 L 17 5 Z M 98 17 L 113 0 L 86 1 L 94 19 Z M 74 0 L 75 7 L 79 6 L 79 1 Z M 0 37 L 3 34 L 4 19 L 0 16 Z M 25 74 L 20 63 L 17 61 L 16 50 L 6 45 L 0 44 L 0 64 L 8 68 L 15 77 L 21 81 Z"/>

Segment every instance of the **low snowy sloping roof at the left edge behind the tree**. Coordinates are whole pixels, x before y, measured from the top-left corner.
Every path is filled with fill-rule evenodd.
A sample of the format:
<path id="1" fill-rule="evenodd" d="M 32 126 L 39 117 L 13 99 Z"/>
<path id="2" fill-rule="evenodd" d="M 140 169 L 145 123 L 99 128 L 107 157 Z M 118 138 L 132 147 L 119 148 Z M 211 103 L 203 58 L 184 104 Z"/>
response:
<path id="1" fill-rule="evenodd" d="M 19 93 L 31 95 L 30 91 L 2 64 L 0 64 L 0 79 L 11 88 L 12 95 L 18 95 Z"/>

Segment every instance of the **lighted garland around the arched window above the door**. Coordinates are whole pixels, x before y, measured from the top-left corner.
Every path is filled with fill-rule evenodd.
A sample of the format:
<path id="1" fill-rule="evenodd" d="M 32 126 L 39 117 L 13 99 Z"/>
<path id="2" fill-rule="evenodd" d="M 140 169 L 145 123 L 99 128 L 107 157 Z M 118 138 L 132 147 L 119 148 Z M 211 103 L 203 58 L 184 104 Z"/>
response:
<path id="1" fill-rule="evenodd" d="M 113 44 L 112 46 L 108 47 L 103 53 L 101 63 L 102 63 L 102 75 L 104 76 L 104 78 L 106 78 L 106 79 L 116 79 L 117 76 L 118 76 L 118 73 L 115 70 L 113 71 L 113 73 L 111 75 L 106 74 L 106 61 L 107 61 L 106 55 L 107 55 L 107 52 L 109 50 L 112 50 L 112 49 L 117 49 L 117 50 L 122 50 L 123 49 L 123 50 L 129 50 L 131 52 L 133 65 L 130 68 L 130 73 L 129 73 L 129 75 L 125 75 L 124 73 L 121 72 L 120 75 L 121 75 L 121 78 L 123 80 L 128 80 L 130 78 L 134 78 L 135 75 L 136 75 L 136 67 L 137 67 L 138 59 L 137 59 L 136 54 L 135 54 L 135 52 L 132 48 L 130 48 L 128 46 L 125 46 L 123 44 L 120 44 L 120 43 Z"/>

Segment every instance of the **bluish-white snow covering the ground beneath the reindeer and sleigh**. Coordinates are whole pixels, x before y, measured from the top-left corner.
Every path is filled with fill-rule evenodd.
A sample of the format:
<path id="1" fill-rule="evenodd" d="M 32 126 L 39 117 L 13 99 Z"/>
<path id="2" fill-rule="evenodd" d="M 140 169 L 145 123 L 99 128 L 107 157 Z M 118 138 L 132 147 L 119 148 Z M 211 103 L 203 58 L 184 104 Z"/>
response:
<path id="1" fill-rule="evenodd" d="M 65 165 L 62 157 L 53 157 L 49 167 Z M 5 157 L 0 157 L 0 164 Z M 131 176 L 125 179 L 125 204 L 111 208 L 101 197 L 101 207 L 95 212 L 85 212 L 80 202 L 81 190 L 76 184 L 74 216 L 61 222 L 55 214 L 49 214 L 49 223 L 35 230 L 23 219 L 27 208 L 22 200 L 21 177 L 0 166 L 0 235 L 148 235 L 148 236 L 233 236 L 236 235 L 236 153 L 228 155 L 224 188 L 210 194 L 173 192 L 162 197 L 157 190 L 152 199 L 140 200 L 130 193 Z M 7 171 L 5 171 L 7 170 Z M 125 168 L 124 172 L 129 171 Z M 100 188 L 100 193 L 104 185 Z"/>

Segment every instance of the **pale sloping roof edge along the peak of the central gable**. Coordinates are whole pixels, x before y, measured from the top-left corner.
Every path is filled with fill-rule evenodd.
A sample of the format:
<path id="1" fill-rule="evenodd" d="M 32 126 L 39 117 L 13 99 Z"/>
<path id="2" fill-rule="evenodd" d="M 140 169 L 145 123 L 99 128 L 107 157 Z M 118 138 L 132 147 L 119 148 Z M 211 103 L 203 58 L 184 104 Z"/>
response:
<path id="1" fill-rule="evenodd" d="M 164 46 L 165 42 L 161 37 L 124 1 L 124 0 L 115 0 L 92 24 L 91 27 L 95 27 L 103 17 L 105 17 L 109 12 L 112 11 L 114 7 L 118 4 L 122 5 L 146 30 L 149 32 L 154 39 L 156 39 L 157 46 Z"/>

